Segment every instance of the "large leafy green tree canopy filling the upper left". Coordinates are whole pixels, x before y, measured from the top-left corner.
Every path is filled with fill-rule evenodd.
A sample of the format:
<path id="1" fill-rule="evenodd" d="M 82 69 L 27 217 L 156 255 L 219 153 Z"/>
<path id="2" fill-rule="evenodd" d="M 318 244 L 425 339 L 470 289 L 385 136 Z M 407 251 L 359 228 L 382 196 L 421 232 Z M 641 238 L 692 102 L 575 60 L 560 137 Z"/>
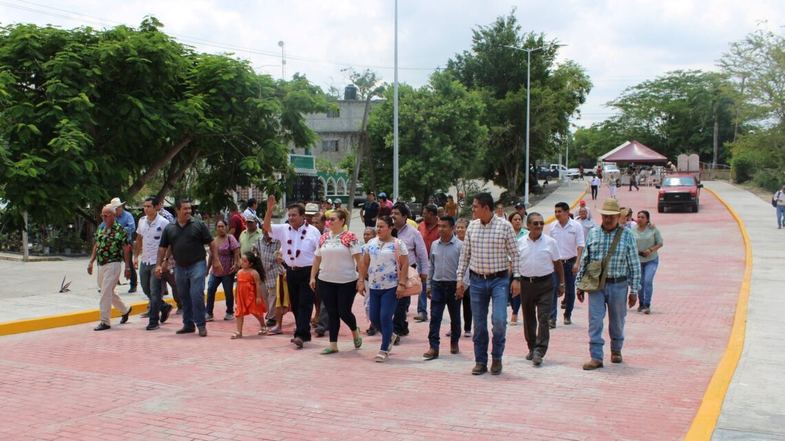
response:
<path id="1" fill-rule="evenodd" d="M 257 75 L 231 54 L 196 53 L 146 17 L 140 27 L 0 27 L 0 184 L 8 213 L 62 221 L 162 177 L 166 195 L 197 169 L 192 196 L 221 207 L 228 191 L 287 170 L 287 144 L 316 135 L 318 87 Z M 148 189 L 149 190 L 149 189 Z"/>

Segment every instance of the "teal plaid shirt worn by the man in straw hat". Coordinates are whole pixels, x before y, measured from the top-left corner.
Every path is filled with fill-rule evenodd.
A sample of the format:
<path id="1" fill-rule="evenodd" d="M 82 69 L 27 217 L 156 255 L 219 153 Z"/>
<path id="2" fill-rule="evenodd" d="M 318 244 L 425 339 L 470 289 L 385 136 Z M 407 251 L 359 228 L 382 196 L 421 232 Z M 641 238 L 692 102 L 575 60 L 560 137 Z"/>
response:
<path id="1" fill-rule="evenodd" d="M 616 250 L 614 250 L 608 261 L 606 277 L 616 278 L 626 275 L 630 289 L 633 293 L 637 293 L 641 286 L 641 261 L 637 257 L 635 237 L 630 230 L 623 226 L 619 225 L 618 228 L 622 229 L 622 237 L 619 238 L 619 244 L 616 245 Z M 613 243 L 615 231 L 615 229 L 613 231 L 605 231 L 602 227 L 589 230 L 589 237 L 586 238 L 586 248 L 583 249 L 578 275 L 575 277 L 575 284 L 581 281 L 590 262 L 602 261 L 604 259 L 605 254 L 608 253 Z"/>

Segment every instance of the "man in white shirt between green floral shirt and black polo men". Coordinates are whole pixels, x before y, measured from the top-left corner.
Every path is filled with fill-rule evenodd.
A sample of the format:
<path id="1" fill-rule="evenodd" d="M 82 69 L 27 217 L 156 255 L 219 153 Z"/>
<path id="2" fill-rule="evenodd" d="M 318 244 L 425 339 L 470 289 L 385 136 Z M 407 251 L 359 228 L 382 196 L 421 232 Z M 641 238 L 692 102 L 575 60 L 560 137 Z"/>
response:
<path id="1" fill-rule="evenodd" d="M 156 206 L 158 198 L 144 199 L 144 214 L 137 226 L 137 242 L 133 248 L 133 266 L 139 268 L 139 282 L 142 291 L 149 299 L 147 330 L 159 329 L 160 323 L 169 319 L 172 305 L 162 301 L 163 284 L 166 279 L 155 277 L 155 264 L 158 261 L 158 247 L 163 229 L 169 224 L 159 213 Z M 160 314 L 160 319 L 159 319 Z"/>

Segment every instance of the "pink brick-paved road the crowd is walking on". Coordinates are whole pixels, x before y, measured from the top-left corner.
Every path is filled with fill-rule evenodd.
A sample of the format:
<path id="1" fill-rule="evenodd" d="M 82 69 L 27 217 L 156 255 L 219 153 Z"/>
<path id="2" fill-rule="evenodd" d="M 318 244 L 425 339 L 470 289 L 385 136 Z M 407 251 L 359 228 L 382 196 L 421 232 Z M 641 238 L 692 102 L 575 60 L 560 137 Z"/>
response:
<path id="1" fill-rule="evenodd" d="M 246 322 L 238 341 L 228 338 L 234 322 L 210 323 L 199 338 L 173 333 L 179 316 L 153 332 L 132 317 L 100 333 L 2 337 L 0 439 L 681 439 L 725 349 L 743 243 L 708 192 L 699 213 L 658 214 L 653 188 L 621 190 L 623 205 L 652 211 L 666 240 L 654 313 L 630 310 L 621 365 L 581 370 L 585 304 L 574 325 L 559 322 L 539 368 L 524 359 L 522 326 L 510 326 L 498 377 L 469 374 L 468 339 L 458 355 L 422 361 L 426 324 L 413 323 L 381 364 L 371 361 L 379 337 L 356 351 L 345 328 L 339 354 L 318 354 L 326 338 L 295 350 L 291 316 L 283 336 L 257 337 Z M 355 311 L 364 329 L 359 299 Z"/>

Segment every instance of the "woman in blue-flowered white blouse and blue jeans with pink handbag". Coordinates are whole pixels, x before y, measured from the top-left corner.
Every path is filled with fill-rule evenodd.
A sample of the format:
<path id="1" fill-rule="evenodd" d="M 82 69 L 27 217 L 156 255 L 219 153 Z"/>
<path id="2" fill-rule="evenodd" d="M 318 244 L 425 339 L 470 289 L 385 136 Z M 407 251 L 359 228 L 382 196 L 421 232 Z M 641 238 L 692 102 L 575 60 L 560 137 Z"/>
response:
<path id="1" fill-rule="evenodd" d="M 396 248 L 400 253 L 400 261 L 396 261 Z M 376 237 L 367 243 L 367 252 L 363 256 L 363 268 L 360 279 L 368 277 L 371 284 L 371 323 L 376 329 L 382 330 L 382 348 L 374 357 L 377 362 L 389 359 L 392 346 L 392 315 L 395 313 L 398 299 L 403 297 L 404 280 L 398 278 L 398 271 L 406 271 L 409 266 L 409 251 L 399 239 L 392 237 L 392 219 L 382 216 L 376 221 Z"/>

